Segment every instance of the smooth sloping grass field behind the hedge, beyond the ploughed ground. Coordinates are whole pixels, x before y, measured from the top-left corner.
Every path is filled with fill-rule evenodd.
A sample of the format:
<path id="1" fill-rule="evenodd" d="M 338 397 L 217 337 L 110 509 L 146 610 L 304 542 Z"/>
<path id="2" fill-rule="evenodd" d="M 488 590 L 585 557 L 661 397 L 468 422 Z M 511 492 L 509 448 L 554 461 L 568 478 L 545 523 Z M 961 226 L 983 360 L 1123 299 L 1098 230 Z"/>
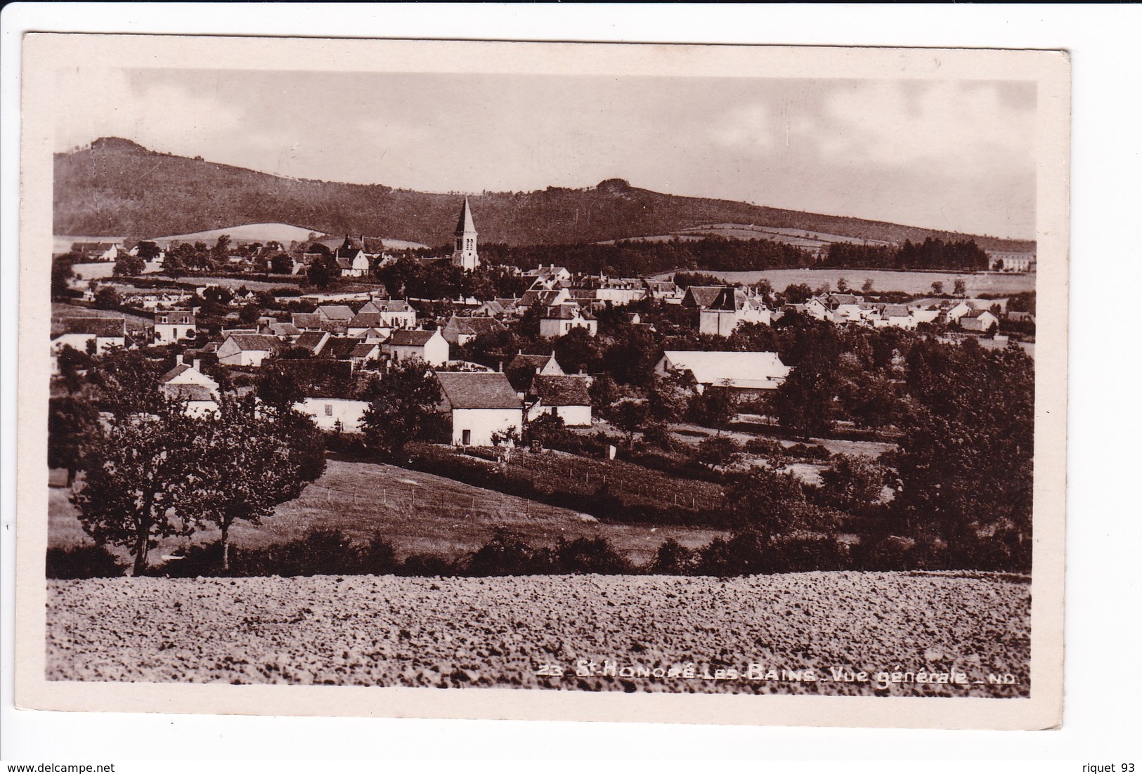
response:
<path id="1" fill-rule="evenodd" d="M 78 484 L 77 484 L 78 485 Z M 87 540 L 67 490 L 48 493 L 48 545 L 66 548 Z M 380 531 L 397 557 L 432 553 L 450 557 L 474 551 L 497 526 L 521 533 L 532 546 L 550 546 L 558 538 L 602 537 L 636 563 L 646 563 L 667 538 L 697 548 L 721 534 L 716 530 L 644 526 L 596 522 L 566 508 L 469 486 L 416 470 L 388 465 L 330 460 L 325 474 L 301 497 L 280 506 L 262 526 L 235 524 L 238 547 L 257 548 L 301 537 L 309 527 L 335 527 L 359 541 Z M 217 540 L 216 530 L 203 530 L 195 542 Z M 168 539 L 152 553 L 152 562 L 180 548 L 185 539 Z M 124 557 L 126 550 L 115 549 Z"/>

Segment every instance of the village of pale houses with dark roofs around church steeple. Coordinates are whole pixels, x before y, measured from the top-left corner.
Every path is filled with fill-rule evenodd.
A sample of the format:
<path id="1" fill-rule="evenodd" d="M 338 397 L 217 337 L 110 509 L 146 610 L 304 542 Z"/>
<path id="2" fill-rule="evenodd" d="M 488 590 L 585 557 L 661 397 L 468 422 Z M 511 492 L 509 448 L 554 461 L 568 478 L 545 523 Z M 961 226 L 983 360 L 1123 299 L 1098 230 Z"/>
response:
<path id="1" fill-rule="evenodd" d="M 340 279 L 360 281 L 371 276 L 378 265 L 393 260 L 385 253 L 365 252 L 367 242 L 364 237 L 346 236 L 331 251 Z M 97 252 L 103 247 L 106 249 Z M 270 249 L 276 247 L 280 245 Z M 263 245 L 254 248 L 255 252 L 262 249 Z M 114 244 L 75 244 L 73 251 L 104 261 L 122 253 L 121 245 Z M 301 252 L 292 261 L 290 273 L 304 273 L 327 255 L 330 251 Z M 152 252 L 152 267 L 161 268 L 164 257 L 162 250 Z M 1008 264 L 1014 260 L 1012 256 L 997 260 L 1004 258 Z M 251 260 L 256 259 L 231 258 L 233 264 L 249 265 Z M 457 224 L 452 255 L 425 263 L 447 264 L 461 272 L 481 266 L 477 231 L 467 200 Z M 674 277 L 572 275 L 556 265 L 515 269 L 514 274 L 520 287 L 525 285 L 520 296 L 483 301 L 461 297 L 451 300 L 447 316 L 434 316 L 433 305 L 425 299 L 394 298 L 384 288 L 268 297 L 268 304 L 266 293 L 219 292 L 218 285 L 209 283 L 120 293 L 121 308 L 131 315 L 151 316 L 153 323 L 131 334 L 127 315 L 89 316 L 82 306 L 61 305 L 53 315 L 51 352 L 55 362 L 64 347 L 95 355 L 111 347 L 161 348 L 169 366 L 161 379 L 163 393 L 183 401 L 186 411 L 195 416 L 217 410 L 219 386 L 209 376 L 216 369 L 250 373 L 267 363 L 282 366 L 305 366 L 311 361 L 325 363 L 346 378 L 311 380 L 308 394 L 296 408 L 312 417 L 320 428 L 348 434 L 361 432 L 369 405 L 362 397 L 360 380 L 352 376 L 363 372 L 383 378 L 395 364 L 419 361 L 426 373 L 434 373 L 440 380 L 440 410 L 451 422 L 452 443 L 490 446 L 493 436 L 521 433 L 541 414 L 558 417 L 565 426 L 576 428 L 589 428 L 597 421 L 592 414 L 589 388 L 600 374 L 581 369 L 569 372 L 552 345 L 574 331 L 580 331 L 579 336 L 596 336 L 600 314 L 622 311 L 629 325 L 651 329 L 654 323 L 644 322 L 643 317 L 654 315 L 637 311 L 648 304 L 673 309 L 675 320 L 684 315 L 701 347 L 665 350 L 653 365 L 654 373 L 684 377 L 698 394 L 714 388 L 739 400 L 775 390 L 790 368 L 774 352 L 723 350 L 717 348 L 717 341 L 729 339 L 742 326 L 770 326 L 787 315 L 871 329 L 916 330 L 930 324 L 940 326 L 947 336 L 987 337 L 989 344 L 1000 346 L 1007 341 L 1006 336 L 998 333 L 1000 317 L 1005 323 L 1016 323 L 1016 328 L 1022 324 L 1021 330 L 1027 323 L 1034 325 L 1034 314 L 1004 312 L 995 301 L 965 298 L 962 288 L 951 297 L 920 297 L 903 303 L 885 301 L 872 293 L 835 291 L 798 303 L 774 303 L 772 292 L 763 293 L 757 288 L 683 287 Z M 82 292 L 80 303 L 94 304 L 99 292 L 98 281 L 72 283 Z M 226 309 L 223 325 L 212 336 L 201 328 L 201 307 L 190 305 L 192 299 L 211 293 L 215 299 L 228 297 L 223 305 Z M 255 308 L 256 298 L 264 306 Z M 288 311 L 298 303 L 312 311 Z M 423 311 L 418 312 L 418 306 Z M 625 312 L 627 308 L 634 311 Z M 499 353 L 498 361 L 484 363 L 464 358 L 474 340 L 496 339 L 526 323 L 532 328 L 538 323 L 536 334 L 528 337 L 534 352 Z M 58 364 L 55 370 L 58 372 Z"/>

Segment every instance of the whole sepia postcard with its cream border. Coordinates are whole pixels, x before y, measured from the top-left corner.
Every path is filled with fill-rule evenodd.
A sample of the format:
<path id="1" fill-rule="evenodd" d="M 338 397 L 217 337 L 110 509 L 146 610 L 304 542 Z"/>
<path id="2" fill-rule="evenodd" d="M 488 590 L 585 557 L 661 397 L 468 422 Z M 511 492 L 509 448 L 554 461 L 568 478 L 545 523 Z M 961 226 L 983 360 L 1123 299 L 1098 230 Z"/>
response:
<path id="1" fill-rule="evenodd" d="M 1061 54 L 24 66 L 26 706 L 1060 720 Z"/>

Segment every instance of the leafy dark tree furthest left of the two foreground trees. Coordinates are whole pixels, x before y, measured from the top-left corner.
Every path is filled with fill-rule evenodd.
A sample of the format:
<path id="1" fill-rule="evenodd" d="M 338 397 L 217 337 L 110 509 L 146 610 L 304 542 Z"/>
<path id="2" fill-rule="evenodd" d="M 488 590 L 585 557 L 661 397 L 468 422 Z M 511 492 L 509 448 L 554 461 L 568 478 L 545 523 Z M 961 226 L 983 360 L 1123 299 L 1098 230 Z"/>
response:
<path id="1" fill-rule="evenodd" d="M 167 404 L 158 416 L 116 418 L 91 438 L 83 487 L 71 501 L 97 543 L 129 548 L 136 575 L 146 572 L 159 538 L 193 529 L 179 516 L 201 461 L 194 453 L 198 421 Z"/>

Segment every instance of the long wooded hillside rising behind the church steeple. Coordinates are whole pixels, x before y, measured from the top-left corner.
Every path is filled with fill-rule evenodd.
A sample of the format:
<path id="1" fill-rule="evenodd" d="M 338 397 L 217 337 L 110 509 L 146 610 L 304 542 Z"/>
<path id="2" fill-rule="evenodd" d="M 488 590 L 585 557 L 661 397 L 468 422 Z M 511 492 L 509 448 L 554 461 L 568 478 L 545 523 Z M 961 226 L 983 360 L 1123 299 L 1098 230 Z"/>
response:
<path id="1" fill-rule="evenodd" d="M 328 234 L 368 234 L 425 244 L 451 240 L 460 194 L 297 180 L 148 151 L 110 137 L 55 156 L 56 234 L 185 234 L 234 224 L 297 224 Z M 670 234 L 706 224 L 755 224 L 862 240 L 964 239 L 860 218 L 815 215 L 717 199 L 674 196 L 604 180 L 471 196 L 483 242 L 562 244 Z M 982 247 L 1026 250 L 1032 242 L 975 237 Z"/>

